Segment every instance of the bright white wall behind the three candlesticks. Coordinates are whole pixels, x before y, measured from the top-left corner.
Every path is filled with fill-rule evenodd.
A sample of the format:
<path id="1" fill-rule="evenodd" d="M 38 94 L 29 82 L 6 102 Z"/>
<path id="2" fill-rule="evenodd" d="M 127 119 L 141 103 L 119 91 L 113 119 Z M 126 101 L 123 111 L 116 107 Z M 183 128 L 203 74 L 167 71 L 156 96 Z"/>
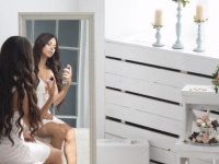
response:
<path id="1" fill-rule="evenodd" d="M 217 49 L 219 43 L 217 38 L 218 23 L 218 1 L 192 0 L 186 8 L 182 8 L 182 37 L 185 48 L 195 48 L 197 38 L 197 24 L 194 23 L 196 4 L 204 4 L 204 16 L 208 19 L 203 24 L 201 37 L 206 50 Z M 162 42 L 171 45 L 176 40 L 176 8 L 172 0 L 105 0 L 105 36 L 124 36 L 127 34 L 141 33 L 139 38 L 147 43 L 155 42 L 154 10 L 163 10 L 163 27 L 161 30 Z M 142 42 L 141 39 L 141 42 Z"/>

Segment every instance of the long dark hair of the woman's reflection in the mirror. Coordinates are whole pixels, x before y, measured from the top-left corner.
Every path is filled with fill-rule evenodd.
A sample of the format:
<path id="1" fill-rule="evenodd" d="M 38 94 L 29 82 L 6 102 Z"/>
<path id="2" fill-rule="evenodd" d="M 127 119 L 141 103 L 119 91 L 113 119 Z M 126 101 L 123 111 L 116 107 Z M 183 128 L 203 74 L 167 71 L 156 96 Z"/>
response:
<path id="1" fill-rule="evenodd" d="M 34 52 L 34 61 L 35 61 L 35 69 L 34 72 L 36 73 L 37 77 L 37 83 L 38 83 L 38 63 L 41 61 L 41 56 L 42 56 L 42 50 L 48 42 L 55 38 L 56 39 L 56 50 L 53 55 L 53 57 L 48 58 L 46 61 L 46 66 L 54 72 L 54 75 L 56 78 L 56 83 L 58 91 L 61 91 L 62 89 L 62 79 L 60 77 L 60 69 L 61 69 L 61 62 L 59 60 L 59 49 L 58 49 L 58 39 L 54 34 L 50 33 L 42 33 L 35 40 L 34 47 L 33 47 L 33 52 Z M 62 101 L 64 102 L 64 101 Z M 61 102 L 61 103 L 62 103 Z M 60 107 L 61 103 L 57 106 L 57 108 Z"/>

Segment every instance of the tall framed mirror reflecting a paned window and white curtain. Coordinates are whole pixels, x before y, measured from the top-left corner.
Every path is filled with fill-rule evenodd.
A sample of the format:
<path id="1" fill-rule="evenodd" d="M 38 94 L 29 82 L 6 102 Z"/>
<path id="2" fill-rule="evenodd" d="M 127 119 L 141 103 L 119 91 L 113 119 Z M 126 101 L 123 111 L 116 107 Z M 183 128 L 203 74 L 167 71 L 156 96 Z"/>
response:
<path id="1" fill-rule="evenodd" d="M 43 32 L 57 36 L 61 66 L 72 67 L 72 84 L 60 112 L 50 110 L 76 129 L 77 164 L 95 164 L 94 13 L 21 12 L 19 27 L 32 44 Z"/>

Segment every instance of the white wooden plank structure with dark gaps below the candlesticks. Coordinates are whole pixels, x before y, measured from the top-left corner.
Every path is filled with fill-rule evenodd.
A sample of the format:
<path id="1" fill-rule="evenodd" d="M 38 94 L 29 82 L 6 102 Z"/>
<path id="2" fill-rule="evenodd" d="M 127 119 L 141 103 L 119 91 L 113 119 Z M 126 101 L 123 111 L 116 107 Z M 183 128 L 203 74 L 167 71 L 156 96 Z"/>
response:
<path id="1" fill-rule="evenodd" d="M 211 85 L 219 63 L 216 52 L 169 47 L 128 36 L 105 40 L 105 138 L 148 139 L 151 163 L 176 163 L 181 90 L 186 84 Z"/>

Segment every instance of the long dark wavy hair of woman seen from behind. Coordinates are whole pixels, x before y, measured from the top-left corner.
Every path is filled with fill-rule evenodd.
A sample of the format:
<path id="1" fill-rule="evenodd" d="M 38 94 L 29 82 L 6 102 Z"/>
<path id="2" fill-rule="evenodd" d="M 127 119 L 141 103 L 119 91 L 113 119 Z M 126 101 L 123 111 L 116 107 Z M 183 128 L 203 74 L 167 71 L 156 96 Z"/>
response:
<path id="1" fill-rule="evenodd" d="M 41 112 L 37 107 L 37 98 L 34 87 L 34 59 L 30 42 L 25 37 L 11 36 L 2 45 L 0 51 L 0 138 L 10 136 L 12 130 L 12 89 L 15 87 L 19 94 L 19 114 L 15 121 L 20 137 L 23 131 L 21 119 L 24 116 L 23 99 L 25 92 L 28 99 L 30 130 L 33 134 L 38 129 L 41 122 Z"/>

